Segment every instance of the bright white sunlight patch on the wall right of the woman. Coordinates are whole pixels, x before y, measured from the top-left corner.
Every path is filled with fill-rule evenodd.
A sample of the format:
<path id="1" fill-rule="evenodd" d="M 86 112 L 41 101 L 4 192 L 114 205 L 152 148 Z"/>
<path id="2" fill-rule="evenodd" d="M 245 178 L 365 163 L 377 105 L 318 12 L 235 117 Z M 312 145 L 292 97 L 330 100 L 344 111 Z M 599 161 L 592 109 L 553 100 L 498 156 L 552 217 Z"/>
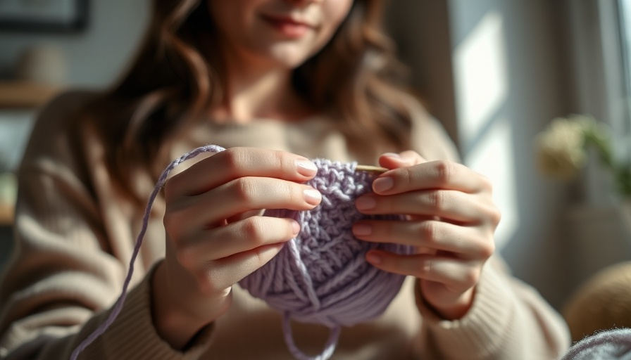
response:
<path id="1" fill-rule="evenodd" d="M 511 124 L 499 116 L 508 98 L 504 21 L 489 11 L 454 51 L 456 105 L 463 161 L 494 184 L 502 212 L 499 248 L 518 227 Z"/>

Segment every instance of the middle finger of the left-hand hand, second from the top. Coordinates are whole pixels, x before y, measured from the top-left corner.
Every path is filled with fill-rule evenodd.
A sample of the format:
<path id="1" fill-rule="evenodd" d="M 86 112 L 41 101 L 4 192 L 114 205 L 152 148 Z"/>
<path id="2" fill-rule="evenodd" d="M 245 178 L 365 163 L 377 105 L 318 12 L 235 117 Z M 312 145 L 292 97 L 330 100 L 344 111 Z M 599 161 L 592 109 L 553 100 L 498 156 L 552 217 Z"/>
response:
<path id="1" fill-rule="evenodd" d="M 273 178 L 241 177 L 204 194 L 169 203 L 167 210 L 178 221 L 216 224 L 242 212 L 261 209 L 311 210 L 322 195 L 311 186 Z"/>

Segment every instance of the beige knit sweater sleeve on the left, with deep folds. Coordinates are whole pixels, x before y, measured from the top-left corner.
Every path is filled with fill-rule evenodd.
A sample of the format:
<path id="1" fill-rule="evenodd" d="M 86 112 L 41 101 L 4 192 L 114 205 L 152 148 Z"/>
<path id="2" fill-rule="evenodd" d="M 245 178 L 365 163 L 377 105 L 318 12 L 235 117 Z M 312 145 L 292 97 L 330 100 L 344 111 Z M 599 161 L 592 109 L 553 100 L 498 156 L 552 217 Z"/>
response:
<path id="1" fill-rule="evenodd" d="M 47 106 L 20 165 L 15 246 L 0 279 L 3 359 L 70 359 L 104 323 L 123 287 L 132 221 L 104 224 L 108 214 L 77 145 L 82 136 L 70 135 L 75 123 L 68 117 L 87 98 L 65 94 Z M 137 263 L 141 276 L 118 318 L 80 359 L 196 359 L 203 352 L 210 330 L 186 352 L 170 348 L 156 333 L 150 288 L 156 261 Z"/>

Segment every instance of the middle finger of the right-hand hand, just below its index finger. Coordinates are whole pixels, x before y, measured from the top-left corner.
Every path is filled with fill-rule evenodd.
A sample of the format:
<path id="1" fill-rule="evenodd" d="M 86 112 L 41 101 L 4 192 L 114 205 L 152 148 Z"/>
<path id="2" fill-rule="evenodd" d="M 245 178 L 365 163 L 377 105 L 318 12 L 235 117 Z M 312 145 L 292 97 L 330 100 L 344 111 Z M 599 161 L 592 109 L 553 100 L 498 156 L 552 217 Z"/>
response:
<path id="1" fill-rule="evenodd" d="M 489 199 L 461 191 L 411 191 L 380 196 L 365 194 L 356 199 L 357 210 L 363 214 L 411 214 L 436 216 L 461 224 L 481 224 L 494 219 L 497 212 Z"/>

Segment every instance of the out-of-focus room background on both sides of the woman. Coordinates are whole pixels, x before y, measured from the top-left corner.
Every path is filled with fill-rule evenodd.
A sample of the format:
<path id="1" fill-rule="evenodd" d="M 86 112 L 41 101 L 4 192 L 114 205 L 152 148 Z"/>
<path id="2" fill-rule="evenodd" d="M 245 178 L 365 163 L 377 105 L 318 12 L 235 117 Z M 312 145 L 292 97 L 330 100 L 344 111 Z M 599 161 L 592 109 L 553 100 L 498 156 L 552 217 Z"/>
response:
<path id="1" fill-rule="evenodd" d="M 411 86 L 463 162 L 494 183 L 499 251 L 557 309 L 631 257 L 629 205 L 597 161 L 571 182 L 542 175 L 533 141 L 555 117 L 584 113 L 628 153 L 629 3 L 394 0 L 387 10 Z M 0 1 L 0 261 L 11 247 L 11 174 L 38 109 L 63 89 L 114 82 L 148 9 L 148 0 Z"/>

